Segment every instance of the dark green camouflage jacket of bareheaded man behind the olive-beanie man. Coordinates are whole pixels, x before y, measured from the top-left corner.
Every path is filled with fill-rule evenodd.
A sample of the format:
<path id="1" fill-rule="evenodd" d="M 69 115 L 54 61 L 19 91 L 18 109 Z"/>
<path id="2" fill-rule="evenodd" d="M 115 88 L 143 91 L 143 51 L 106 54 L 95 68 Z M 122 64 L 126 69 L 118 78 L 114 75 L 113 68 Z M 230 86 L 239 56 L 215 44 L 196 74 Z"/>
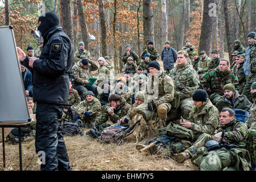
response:
<path id="1" fill-rule="evenodd" d="M 224 95 L 223 88 L 226 84 L 234 84 L 235 89 L 239 89 L 238 78 L 231 70 L 227 71 L 224 76 L 221 75 L 222 73 L 217 67 L 200 78 L 200 86 L 206 90 L 209 96 L 213 93 Z"/>

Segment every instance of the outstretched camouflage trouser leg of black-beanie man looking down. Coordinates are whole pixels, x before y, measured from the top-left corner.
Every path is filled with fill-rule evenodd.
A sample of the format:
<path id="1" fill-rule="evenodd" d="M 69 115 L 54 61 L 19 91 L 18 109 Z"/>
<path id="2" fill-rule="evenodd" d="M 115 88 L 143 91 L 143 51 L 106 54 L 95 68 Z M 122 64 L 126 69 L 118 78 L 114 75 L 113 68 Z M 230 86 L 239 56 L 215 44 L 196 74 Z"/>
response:
<path id="1" fill-rule="evenodd" d="M 188 152 L 191 156 L 196 154 L 198 148 L 204 147 L 205 143 L 208 142 L 208 140 L 212 139 L 212 136 L 206 133 L 201 133 L 195 134 L 194 139 L 196 139 L 196 141 L 192 144 L 192 146 L 185 150 L 185 152 Z"/>

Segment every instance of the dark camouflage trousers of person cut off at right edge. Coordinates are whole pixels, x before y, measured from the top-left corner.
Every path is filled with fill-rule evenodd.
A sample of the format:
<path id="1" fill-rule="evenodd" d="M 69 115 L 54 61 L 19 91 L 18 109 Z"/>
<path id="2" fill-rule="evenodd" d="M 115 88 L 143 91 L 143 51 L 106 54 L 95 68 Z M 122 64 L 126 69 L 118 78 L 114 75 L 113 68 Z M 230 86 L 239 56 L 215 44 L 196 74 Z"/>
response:
<path id="1" fill-rule="evenodd" d="M 246 133 L 246 148 L 251 156 L 251 162 L 256 163 L 256 130 L 248 130 Z"/>

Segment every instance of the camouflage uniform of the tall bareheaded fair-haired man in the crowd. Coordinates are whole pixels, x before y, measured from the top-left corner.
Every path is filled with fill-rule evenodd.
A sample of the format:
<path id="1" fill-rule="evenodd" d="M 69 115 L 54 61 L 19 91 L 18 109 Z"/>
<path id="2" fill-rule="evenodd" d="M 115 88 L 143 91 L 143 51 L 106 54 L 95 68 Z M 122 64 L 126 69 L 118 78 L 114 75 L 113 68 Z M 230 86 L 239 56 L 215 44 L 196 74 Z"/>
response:
<path id="1" fill-rule="evenodd" d="M 182 117 L 188 119 L 189 113 L 193 107 L 192 96 L 200 83 L 198 74 L 192 65 L 186 63 L 184 65 L 177 65 L 173 68 L 170 71 L 169 76 L 172 77 L 176 88 L 180 92 Z"/>

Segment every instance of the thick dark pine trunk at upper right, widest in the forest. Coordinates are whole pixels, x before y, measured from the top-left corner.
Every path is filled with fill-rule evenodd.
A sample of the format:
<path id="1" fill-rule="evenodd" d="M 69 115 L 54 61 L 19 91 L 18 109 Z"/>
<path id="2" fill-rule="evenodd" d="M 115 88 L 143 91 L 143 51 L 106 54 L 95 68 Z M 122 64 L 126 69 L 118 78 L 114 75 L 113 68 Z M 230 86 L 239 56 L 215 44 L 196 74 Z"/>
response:
<path id="1" fill-rule="evenodd" d="M 204 14 L 202 18 L 200 43 L 198 48 L 199 51 L 205 51 L 208 55 L 210 52 L 209 42 L 212 39 L 212 26 L 214 22 L 214 13 L 212 12 L 212 7 L 209 7 L 210 3 L 214 3 L 214 0 L 204 1 Z"/>

